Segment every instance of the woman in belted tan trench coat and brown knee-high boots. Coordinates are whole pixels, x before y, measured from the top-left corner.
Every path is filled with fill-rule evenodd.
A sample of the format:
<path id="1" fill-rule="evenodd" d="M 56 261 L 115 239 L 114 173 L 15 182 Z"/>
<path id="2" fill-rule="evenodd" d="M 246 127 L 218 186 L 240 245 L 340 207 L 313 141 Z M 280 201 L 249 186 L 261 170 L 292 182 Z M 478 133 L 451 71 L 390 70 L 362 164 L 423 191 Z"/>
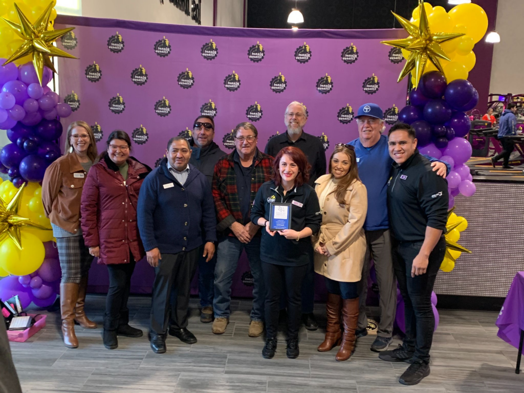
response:
<path id="1" fill-rule="evenodd" d="M 355 349 L 358 320 L 357 283 L 361 279 L 366 237 L 366 187 L 358 178 L 353 146 L 337 144 L 330 158 L 329 174 L 315 181 L 322 211 L 322 225 L 312 238 L 315 271 L 325 277 L 328 288 L 328 326 L 320 352 L 340 343 L 337 361 L 345 361 Z M 341 330 L 341 312 L 342 326 Z"/>

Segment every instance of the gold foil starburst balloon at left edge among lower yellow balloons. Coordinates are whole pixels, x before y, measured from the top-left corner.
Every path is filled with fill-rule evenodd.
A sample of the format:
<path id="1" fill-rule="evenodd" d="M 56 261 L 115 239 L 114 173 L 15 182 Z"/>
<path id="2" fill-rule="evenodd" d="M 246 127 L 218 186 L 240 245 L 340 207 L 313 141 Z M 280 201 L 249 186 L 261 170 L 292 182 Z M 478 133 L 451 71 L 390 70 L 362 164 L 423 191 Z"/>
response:
<path id="1" fill-rule="evenodd" d="M 2 196 L 0 196 L 0 243 L 2 243 L 5 238 L 10 237 L 20 250 L 22 249 L 20 228 L 26 227 L 50 231 L 50 228 L 35 224 L 26 217 L 18 215 L 18 208 L 20 207 L 25 184 L 26 183 L 20 186 L 17 193 L 9 203 L 6 203 L 2 199 Z"/>

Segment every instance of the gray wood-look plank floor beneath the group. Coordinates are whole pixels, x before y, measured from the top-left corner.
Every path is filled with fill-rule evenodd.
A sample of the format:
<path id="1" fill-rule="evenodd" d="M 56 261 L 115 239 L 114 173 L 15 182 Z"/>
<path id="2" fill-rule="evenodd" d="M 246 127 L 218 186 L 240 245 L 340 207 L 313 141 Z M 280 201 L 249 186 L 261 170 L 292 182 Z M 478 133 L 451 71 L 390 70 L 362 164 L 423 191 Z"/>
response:
<path id="1" fill-rule="evenodd" d="M 524 373 L 515 374 L 516 348 L 497 337 L 497 313 L 440 310 L 440 325 L 431 350 L 431 375 L 421 384 L 398 383 L 405 363 L 388 363 L 369 351 L 373 336 L 358 340 L 347 362 L 336 362 L 333 350 L 316 347 L 324 330 L 300 331 L 300 356 L 286 357 L 280 332 L 275 358 L 260 352 L 263 337 L 247 336 L 249 301 L 232 302 L 231 322 L 223 335 L 211 333 L 211 324 L 199 320 L 196 299 L 191 300 L 189 329 L 198 343 L 187 345 L 168 337 L 167 353 L 154 354 L 147 330 L 150 299 L 129 300 L 131 324 L 144 330 L 140 339 L 119 337 L 117 350 L 102 345 L 105 297 L 89 296 L 86 310 L 100 324 L 96 330 L 77 326 L 80 346 L 65 348 L 57 313 L 47 326 L 25 343 L 12 343 L 13 357 L 25 393 L 97 392 L 355 392 L 355 393 L 507 393 L 524 392 Z M 325 325 L 324 305 L 315 313 Z M 400 341 L 395 339 L 394 346 Z"/>

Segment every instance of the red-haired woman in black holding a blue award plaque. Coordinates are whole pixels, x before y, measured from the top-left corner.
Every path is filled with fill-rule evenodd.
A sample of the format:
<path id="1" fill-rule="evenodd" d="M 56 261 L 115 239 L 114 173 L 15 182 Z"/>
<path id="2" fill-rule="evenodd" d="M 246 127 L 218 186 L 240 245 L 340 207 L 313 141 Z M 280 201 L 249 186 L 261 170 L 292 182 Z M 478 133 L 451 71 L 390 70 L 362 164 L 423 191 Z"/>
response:
<path id="1" fill-rule="evenodd" d="M 288 339 L 286 354 L 299 355 L 302 281 L 312 263 L 311 235 L 321 224 L 319 200 L 310 185 L 308 159 L 302 150 L 285 147 L 274 161 L 272 180 L 261 185 L 251 209 L 251 221 L 265 226 L 260 259 L 266 284 L 266 345 L 262 356 L 270 359 L 277 348 L 280 294 L 287 289 Z"/>

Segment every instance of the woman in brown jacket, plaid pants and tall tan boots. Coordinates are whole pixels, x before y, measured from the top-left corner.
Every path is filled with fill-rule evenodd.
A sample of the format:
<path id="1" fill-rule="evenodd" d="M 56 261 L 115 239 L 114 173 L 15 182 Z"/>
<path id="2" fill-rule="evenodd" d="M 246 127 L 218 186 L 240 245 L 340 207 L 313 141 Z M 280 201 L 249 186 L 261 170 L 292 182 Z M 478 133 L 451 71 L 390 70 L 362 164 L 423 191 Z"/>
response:
<path id="1" fill-rule="evenodd" d="M 80 228 L 80 198 L 86 175 L 96 162 L 98 151 L 91 127 L 73 122 L 67 129 L 65 154 L 51 163 L 42 181 L 42 204 L 57 239 L 62 280 L 60 311 L 64 345 L 78 347 L 74 322 L 84 329 L 96 329 L 84 312 L 88 272 L 93 261 L 84 245 Z"/>

